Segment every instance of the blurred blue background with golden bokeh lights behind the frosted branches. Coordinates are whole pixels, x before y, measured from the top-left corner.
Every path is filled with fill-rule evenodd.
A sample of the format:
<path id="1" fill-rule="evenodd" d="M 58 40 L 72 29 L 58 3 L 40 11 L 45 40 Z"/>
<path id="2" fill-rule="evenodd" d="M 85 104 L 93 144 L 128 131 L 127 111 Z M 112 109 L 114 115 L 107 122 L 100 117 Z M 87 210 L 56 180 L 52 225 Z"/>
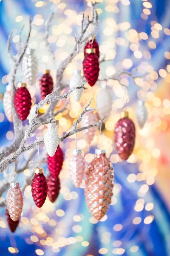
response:
<path id="1" fill-rule="evenodd" d="M 60 146 L 65 152 L 65 162 L 60 175 L 61 191 L 55 204 L 48 199 L 44 206 L 35 207 L 31 186 L 24 192 L 23 214 L 16 232 L 12 234 L 6 221 L 5 208 L 0 209 L 0 255 L 23 256 L 169 256 L 170 255 L 170 2 L 168 0 L 98 0 L 99 13 L 97 41 L 101 55 L 106 61 L 100 65 L 100 79 L 111 76 L 117 70 L 138 68 L 141 73 L 148 71 L 145 78 L 136 80 L 122 77 L 122 84 L 109 80 L 113 89 L 113 111 L 105 122 L 102 133 L 102 148 L 106 149 L 115 170 L 114 197 L 111 207 L 96 221 L 85 204 L 84 183 L 75 189 L 68 171 L 69 157 L 75 148 L 75 137 L 68 138 Z M 81 30 L 82 13 L 91 15 L 88 0 L 1 0 L 0 1 L 0 146 L 12 143 L 13 125 L 3 111 L 3 94 L 6 91 L 7 75 L 11 64 L 6 52 L 8 35 L 14 29 L 12 52 L 15 55 L 19 32 L 23 24 L 23 41 L 28 32 L 28 15 L 33 27 L 29 47 L 35 49 L 39 58 L 39 77 L 50 69 L 55 81 L 56 67 L 52 64 L 42 41 L 46 20 L 51 12 L 55 17 L 51 25 L 51 47 L 54 49 L 56 65 L 64 60 L 74 47 L 74 35 Z M 90 32 L 88 32 L 90 33 Z M 79 68 L 82 67 L 83 53 L 79 53 Z M 75 69 L 75 60 L 64 72 L 69 82 Z M 17 82 L 21 82 L 21 68 Z M 71 98 L 68 110 L 57 116 L 59 134 L 67 131 L 82 111 L 88 99 L 94 97 L 100 83 L 83 93 L 80 102 Z M 148 122 L 140 130 L 135 119 L 136 102 L 144 99 L 149 112 Z M 29 88 L 33 103 L 40 101 L 39 78 Z M 122 162 L 113 145 L 113 129 L 120 112 L 129 99 L 127 109 L 136 125 L 136 144 L 133 154 Z M 59 102 L 57 109 L 64 102 Z M 46 108 L 40 110 L 45 112 Z M 27 123 L 27 121 L 26 121 Z M 40 126 L 37 137 L 42 136 L 46 127 Z M 98 142 L 97 131 L 91 147 L 79 134 L 78 146 L 89 163 L 94 157 Z M 44 153 L 44 148 L 40 148 Z M 24 166 L 30 152 L 19 157 L 18 168 Z M 44 155 L 44 154 L 43 154 Z M 36 157 L 33 159 L 36 163 Z M 33 165 L 34 165 L 33 163 Z M 46 174 L 46 163 L 43 163 Z M 14 166 L 0 176 L 11 178 Z M 47 171 L 48 172 L 48 171 Z M 17 175 L 20 184 L 31 173 L 24 170 Z M 6 198 L 6 192 L 2 198 Z"/>

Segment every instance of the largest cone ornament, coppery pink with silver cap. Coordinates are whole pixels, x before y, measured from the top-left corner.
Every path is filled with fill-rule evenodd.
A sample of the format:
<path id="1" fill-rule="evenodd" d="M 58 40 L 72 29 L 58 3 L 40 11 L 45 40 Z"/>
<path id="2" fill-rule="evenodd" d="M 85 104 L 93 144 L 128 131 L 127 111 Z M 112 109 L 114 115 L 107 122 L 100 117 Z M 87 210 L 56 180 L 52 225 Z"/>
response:
<path id="1" fill-rule="evenodd" d="M 96 157 L 85 172 L 85 200 L 88 210 L 96 220 L 108 212 L 113 196 L 114 171 L 105 150 L 96 150 Z"/>

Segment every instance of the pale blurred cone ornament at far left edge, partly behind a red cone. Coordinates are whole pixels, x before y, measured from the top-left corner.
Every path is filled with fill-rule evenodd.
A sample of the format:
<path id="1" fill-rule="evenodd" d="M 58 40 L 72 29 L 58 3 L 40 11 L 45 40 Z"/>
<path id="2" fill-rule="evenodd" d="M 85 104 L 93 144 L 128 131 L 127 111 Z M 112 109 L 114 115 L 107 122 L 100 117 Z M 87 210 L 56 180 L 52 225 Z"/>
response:
<path id="1" fill-rule="evenodd" d="M 6 86 L 6 92 L 3 96 L 3 109 L 6 115 L 6 118 L 9 122 L 13 122 L 13 116 L 12 116 L 12 105 L 11 105 L 11 88 L 10 85 Z"/>

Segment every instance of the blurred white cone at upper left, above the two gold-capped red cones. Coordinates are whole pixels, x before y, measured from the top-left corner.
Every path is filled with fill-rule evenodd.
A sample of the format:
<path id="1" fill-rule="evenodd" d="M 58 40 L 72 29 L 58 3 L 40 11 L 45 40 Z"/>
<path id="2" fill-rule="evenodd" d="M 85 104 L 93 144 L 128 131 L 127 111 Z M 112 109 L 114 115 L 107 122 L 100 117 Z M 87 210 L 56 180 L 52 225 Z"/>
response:
<path id="1" fill-rule="evenodd" d="M 33 85 L 38 74 L 38 59 L 34 54 L 34 49 L 27 49 L 23 57 L 23 76 L 28 85 Z"/>

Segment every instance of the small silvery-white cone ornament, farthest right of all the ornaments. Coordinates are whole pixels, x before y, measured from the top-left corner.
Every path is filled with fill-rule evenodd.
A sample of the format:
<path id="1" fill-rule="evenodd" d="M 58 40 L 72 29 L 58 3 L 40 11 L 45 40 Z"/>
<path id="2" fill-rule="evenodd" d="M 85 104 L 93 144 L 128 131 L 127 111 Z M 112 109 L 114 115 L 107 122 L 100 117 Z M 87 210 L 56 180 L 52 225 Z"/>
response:
<path id="1" fill-rule="evenodd" d="M 144 101 L 139 99 L 137 103 L 137 108 L 136 108 L 136 119 L 141 129 L 144 127 L 145 122 L 147 122 L 147 116 L 148 116 L 148 112 L 144 104 Z"/>

